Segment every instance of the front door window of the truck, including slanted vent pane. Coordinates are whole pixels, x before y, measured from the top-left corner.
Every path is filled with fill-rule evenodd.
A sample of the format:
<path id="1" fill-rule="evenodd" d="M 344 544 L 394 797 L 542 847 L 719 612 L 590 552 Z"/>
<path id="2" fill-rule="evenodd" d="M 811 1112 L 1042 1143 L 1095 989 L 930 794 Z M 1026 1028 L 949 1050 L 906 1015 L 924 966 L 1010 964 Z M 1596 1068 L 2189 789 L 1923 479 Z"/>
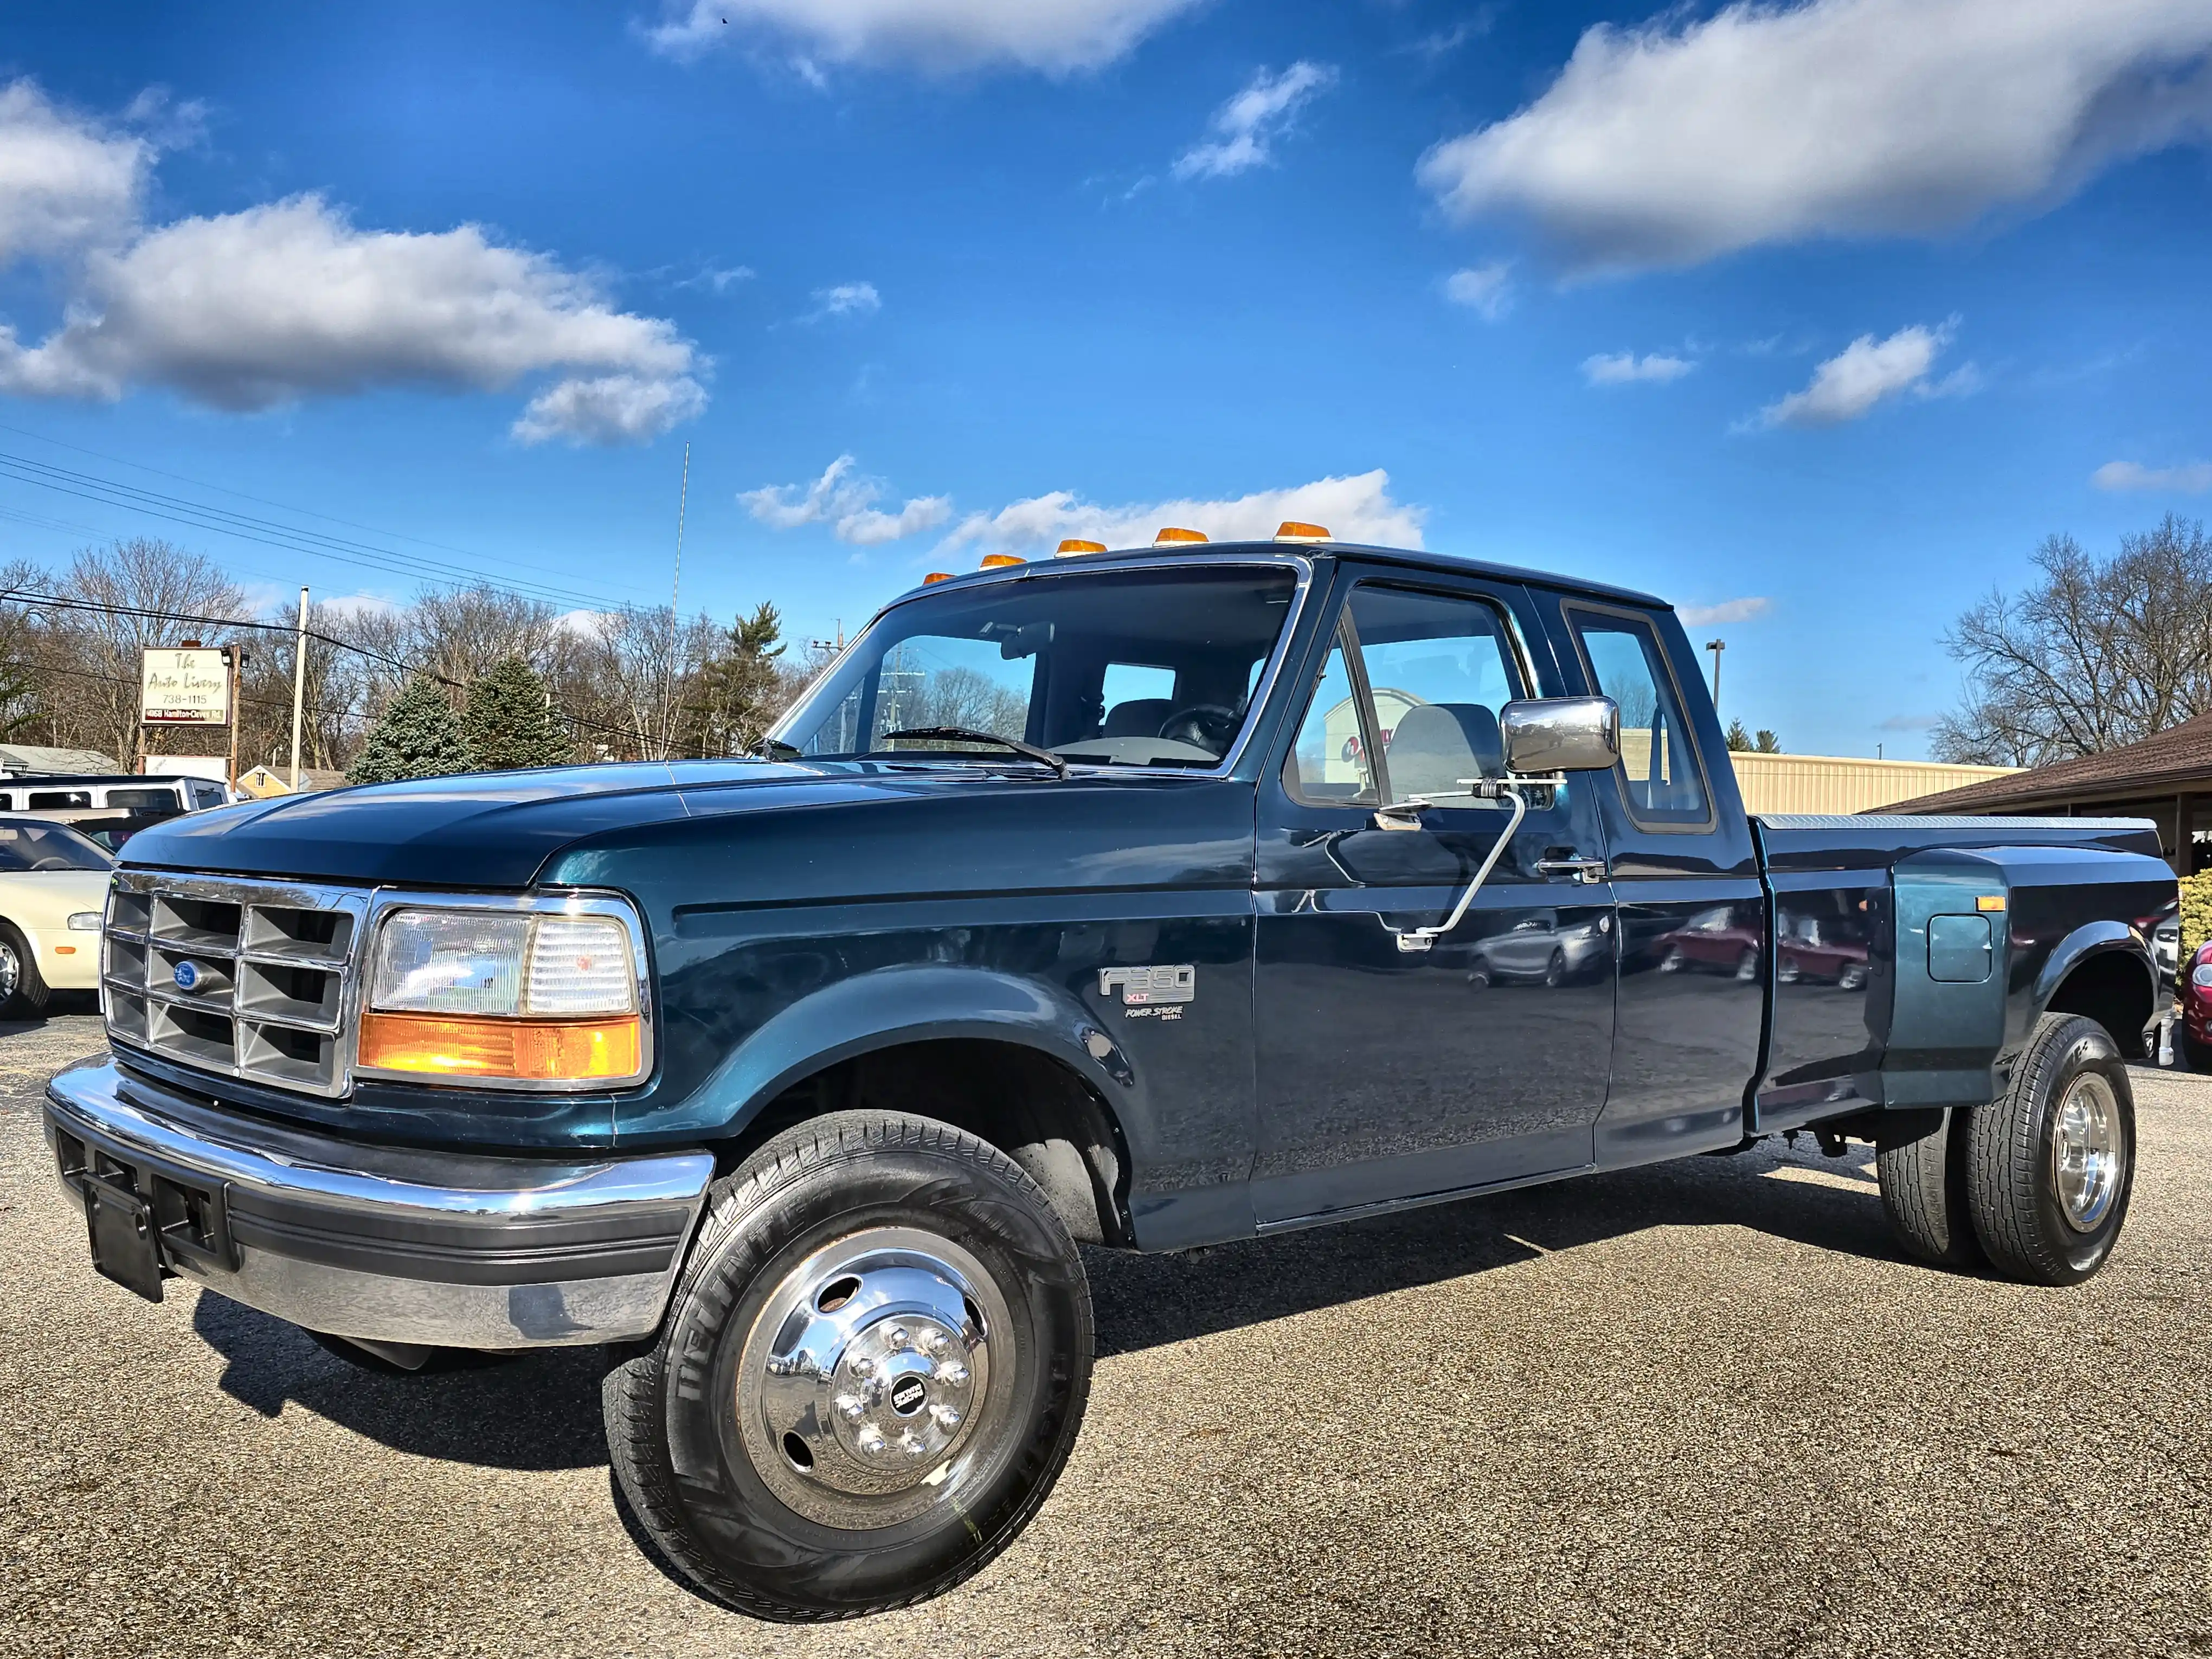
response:
<path id="1" fill-rule="evenodd" d="M 1464 779 L 1504 776 L 1498 710 L 1522 695 L 1522 677 L 1500 611 L 1484 599 L 1360 584 L 1347 619 L 1343 635 L 1358 650 L 1367 721 L 1358 719 L 1340 639 L 1298 730 L 1292 794 L 1396 803 L 1460 794 Z M 1380 750 L 1374 757 L 1365 752 L 1367 734 Z"/>

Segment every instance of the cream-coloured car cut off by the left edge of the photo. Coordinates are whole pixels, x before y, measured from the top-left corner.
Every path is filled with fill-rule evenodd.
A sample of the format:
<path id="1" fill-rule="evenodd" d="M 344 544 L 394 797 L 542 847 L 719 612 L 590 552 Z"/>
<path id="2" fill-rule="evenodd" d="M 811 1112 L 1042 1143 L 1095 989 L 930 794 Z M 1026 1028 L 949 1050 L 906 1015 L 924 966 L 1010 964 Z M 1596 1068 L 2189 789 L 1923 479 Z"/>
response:
<path id="1" fill-rule="evenodd" d="M 0 1013 L 100 989 L 100 914 L 115 858 L 51 818 L 0 816 Z"/>

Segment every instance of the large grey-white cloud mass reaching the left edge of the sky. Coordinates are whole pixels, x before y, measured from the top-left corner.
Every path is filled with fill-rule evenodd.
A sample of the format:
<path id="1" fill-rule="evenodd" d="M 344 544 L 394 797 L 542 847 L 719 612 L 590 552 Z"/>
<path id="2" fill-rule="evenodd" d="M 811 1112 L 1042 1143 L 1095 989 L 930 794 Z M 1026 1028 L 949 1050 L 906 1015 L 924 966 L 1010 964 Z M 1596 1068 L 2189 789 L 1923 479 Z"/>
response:
<path id="1" fill-rule="evenodd" d="M 13 155 L 11 115 L 42 135 L 33 157 L 73 153 L 73 170 Z M 529 442 L 650 438 L 706 405 L 695 376 L 708 365 L 672 323 L 617 312 L 586 276 L 480 226 L 358 230 L 319 195 L 144 226 L 148 164 L 144 142 L 60 115 L 35 86 L 0 93 L 0 228 L 15 228 L 9 248 L 49 254 L 64 292 L 60 325 L 35 345 L 0 323 L 0 392 L 115 400 L 166 387 L 250 411 L 562 376 L 515 422 Z"/>

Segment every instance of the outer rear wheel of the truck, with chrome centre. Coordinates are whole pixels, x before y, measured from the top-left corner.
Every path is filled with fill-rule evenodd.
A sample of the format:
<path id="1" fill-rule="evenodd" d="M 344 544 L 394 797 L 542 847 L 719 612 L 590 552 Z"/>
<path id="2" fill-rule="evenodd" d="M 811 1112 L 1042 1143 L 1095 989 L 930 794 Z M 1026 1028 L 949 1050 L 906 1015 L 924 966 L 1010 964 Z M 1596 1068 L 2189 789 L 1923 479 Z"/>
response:
<path id="1" fill-rule="evenodd" d="M 2095 1274 L 2135 1188 L 2135 1088 L 2110 1033 L 2046 1013 L 2013 1086 L 1969 1117 L 1973 1232 L 1991 1267 L 2026 1285 Z"/>

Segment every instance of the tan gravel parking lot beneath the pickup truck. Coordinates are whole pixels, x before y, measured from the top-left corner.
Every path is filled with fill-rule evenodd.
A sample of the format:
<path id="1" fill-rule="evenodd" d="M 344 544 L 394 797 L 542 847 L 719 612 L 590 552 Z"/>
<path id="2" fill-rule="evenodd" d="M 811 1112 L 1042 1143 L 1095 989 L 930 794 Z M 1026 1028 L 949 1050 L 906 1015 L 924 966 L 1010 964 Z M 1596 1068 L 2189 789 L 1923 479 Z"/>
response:
<path id="1" fill-rule="evenodd" d="M 1093 1254 L 1075 1460 L 980 1579 L 785 1630 L 624 1531 L 593 1354 L 365 1376 L 93 1276 L 0 1026 L 0 1652 L 2212 1650 L 2212 1084 L 2137 1071 L 2073 1292 L 1902 1263 L 1809 1137 L 1192 1256 Z"/>

